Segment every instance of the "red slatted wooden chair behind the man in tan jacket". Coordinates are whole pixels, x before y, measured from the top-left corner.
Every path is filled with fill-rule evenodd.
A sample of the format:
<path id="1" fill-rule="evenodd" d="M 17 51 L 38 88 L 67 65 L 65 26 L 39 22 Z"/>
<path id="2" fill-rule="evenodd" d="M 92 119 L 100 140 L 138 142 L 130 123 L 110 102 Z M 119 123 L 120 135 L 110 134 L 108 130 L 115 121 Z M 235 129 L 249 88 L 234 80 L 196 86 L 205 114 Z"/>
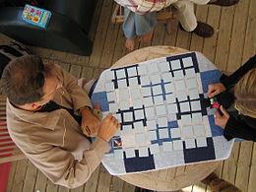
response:
<path id="1" fill-rule="evenodd" d="M 0 163 L 23 160 L 25 155 L 12 141 L 6 125 L 6 97 L 0 96 Z"/>

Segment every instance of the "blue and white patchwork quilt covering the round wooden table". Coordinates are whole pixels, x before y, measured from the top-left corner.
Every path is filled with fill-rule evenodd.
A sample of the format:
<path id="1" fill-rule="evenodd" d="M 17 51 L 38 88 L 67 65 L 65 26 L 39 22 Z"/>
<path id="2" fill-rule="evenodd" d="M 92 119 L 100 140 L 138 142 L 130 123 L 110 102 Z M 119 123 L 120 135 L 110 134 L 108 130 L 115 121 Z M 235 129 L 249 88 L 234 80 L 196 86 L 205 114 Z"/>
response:
<path id="1" fill-rule="evenodd" d="M 220 76 L 199 52 L 103 71 L 92 100 L 121 122 L 102 160 L 107 170 L 121 175 L 228 158 L 233 141 L 203 102 Z"/>

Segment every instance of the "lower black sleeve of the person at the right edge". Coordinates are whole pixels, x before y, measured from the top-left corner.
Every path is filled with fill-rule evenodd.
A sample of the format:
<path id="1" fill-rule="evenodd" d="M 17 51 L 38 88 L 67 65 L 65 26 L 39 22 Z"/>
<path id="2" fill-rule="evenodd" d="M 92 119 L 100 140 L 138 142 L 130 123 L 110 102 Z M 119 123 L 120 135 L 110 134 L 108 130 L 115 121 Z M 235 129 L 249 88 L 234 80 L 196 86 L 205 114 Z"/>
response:
<path id="1" fill-rule="evenodd" d="M 230 115 L 224 127 L 224 138 L 228 141 L 233 138 L 241 138 L 255 142 L 256 129 L 248 126 L 243 120 L 237 120 Z"/>

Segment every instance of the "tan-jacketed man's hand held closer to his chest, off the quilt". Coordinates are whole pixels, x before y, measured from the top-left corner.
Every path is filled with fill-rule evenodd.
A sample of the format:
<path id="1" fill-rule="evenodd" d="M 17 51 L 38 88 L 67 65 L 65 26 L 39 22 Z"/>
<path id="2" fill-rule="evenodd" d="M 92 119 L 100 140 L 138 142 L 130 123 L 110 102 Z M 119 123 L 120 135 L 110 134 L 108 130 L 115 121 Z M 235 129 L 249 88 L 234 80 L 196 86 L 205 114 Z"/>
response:
<path id="1" fill-rule="evenodd" d="M 95 137 L 100 125 L 100 120 L 90 109 L 84 109 L 81 111 L 82 123 L 81 129 L 83 133 L 88 137 Z"/>

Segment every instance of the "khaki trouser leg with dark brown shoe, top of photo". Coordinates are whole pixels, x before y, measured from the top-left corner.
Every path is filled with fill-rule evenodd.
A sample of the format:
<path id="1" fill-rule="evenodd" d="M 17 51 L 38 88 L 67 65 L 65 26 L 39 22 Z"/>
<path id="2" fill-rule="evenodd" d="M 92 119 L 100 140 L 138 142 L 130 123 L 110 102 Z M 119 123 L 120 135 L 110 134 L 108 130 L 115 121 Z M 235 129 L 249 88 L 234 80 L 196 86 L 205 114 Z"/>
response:
<path id="1" fill-rule="evenodd" d="M 191 1 L 178 1 L 173 4 L 174 12 L 177 14 L 181 29 L 186 32 L 195 32 L 203 37 L 210 37 L 214 34 L 214 29 L 202 22 L 197 22 L 194 13 L 194 3 Z"/>

